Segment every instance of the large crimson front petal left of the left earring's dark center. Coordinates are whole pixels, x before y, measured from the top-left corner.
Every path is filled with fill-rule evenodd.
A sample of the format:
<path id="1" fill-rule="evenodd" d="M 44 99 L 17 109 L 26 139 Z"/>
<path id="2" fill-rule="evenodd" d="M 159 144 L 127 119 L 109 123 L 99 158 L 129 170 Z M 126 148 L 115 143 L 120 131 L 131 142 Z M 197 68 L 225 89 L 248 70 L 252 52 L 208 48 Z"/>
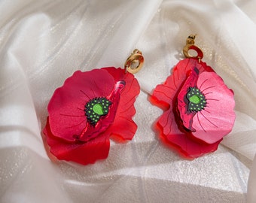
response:
<path id="1" fill-rule="evenodd" d="M 81 135 L 87 126 L 84 105 L 92 98 L 110 95 L 113 87 L 114 80 L 108 71 L 76 71 L 50 99 L 48 111 L 53 135 L 75 141 L 74 135 Z"/>

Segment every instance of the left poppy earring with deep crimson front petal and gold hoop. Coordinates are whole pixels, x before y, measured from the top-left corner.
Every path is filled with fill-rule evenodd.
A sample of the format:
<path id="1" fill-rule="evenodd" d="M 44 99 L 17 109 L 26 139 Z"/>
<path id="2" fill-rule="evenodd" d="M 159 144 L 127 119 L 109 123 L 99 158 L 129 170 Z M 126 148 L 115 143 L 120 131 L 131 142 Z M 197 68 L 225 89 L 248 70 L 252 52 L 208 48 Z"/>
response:
<path id="1" fill-rule="evenodd" d="M 53 93 L 43 133 L 50 153 L 59 160 L 92 164 L 106 159 L 109 138 L 132 140 L 136 133 L 134 102 L 140 87 L 133 73 L 142 68 L 134 50 L 125 68 L 75 71 Z"/>

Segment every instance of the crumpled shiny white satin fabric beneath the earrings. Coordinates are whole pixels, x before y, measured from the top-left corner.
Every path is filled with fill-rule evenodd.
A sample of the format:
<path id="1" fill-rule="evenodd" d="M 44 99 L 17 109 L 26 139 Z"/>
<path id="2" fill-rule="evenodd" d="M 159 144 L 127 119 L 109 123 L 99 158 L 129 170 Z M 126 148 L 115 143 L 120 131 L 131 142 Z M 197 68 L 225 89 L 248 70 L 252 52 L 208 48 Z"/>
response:
<path id="1" fill-rule="evenodd" d="M 245 202 L 256 151 L 254 8 L 242 0 L 0 2 L 0 201 Z M 191 33 L 203 61 L 234 90 L 237 119 L 222 142 L 229 148 L 187 161 L 151 129 L 162 111 L 148 93 L 181 59 Z M 41 127 L 54 89 L 77 69 L 123 66 L 134 48 L 145 66 L 136 74 L 133 141 L 112 141 L 108 159 L 94 165 L 50 162 Z"/>

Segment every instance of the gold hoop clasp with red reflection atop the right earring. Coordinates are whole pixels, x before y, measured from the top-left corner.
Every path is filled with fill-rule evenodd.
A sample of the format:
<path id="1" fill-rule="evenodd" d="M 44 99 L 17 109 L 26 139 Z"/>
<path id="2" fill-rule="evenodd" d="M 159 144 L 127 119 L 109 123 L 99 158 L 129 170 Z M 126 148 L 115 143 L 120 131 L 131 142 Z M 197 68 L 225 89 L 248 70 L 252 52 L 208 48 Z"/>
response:
<path id="1" fill-rule="evenodd" d="M 195 44 L 195 38 L 196 35 L 189 35 L 187 37 L 186 46 L 183 48 L 183 54 L 186 58 L 192 58 L 192 59 L 198 59 L 199 62 L 201 59 L 203 59 L 203 51 L 200 49 L 200 47 L 197 47 Z M 188 51 L 189 50 L 195 50 L 197 52 L 197 56 L 191 56 Z"/>

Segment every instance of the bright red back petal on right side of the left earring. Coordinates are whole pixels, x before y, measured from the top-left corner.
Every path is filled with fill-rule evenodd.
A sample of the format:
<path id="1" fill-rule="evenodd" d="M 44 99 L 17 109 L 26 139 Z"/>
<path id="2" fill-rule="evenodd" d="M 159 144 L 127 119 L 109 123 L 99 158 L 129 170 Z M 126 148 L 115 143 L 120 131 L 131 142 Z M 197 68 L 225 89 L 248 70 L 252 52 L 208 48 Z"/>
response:
<path id="1" fill-rule="evenodd" d="M 123 89 L 122 96 L 120 97 L 117 113 L 113 124 L 108 128 L 108 132 L 112 135 L 118 135 L 124 140 L 131 140 L 136 133 L 137 125 L 133 121 L 133 116 L 136 114 L 134 102 L 136 96 L 139 95 L 139 83 L 133 74 L 121 68 L 104 68 L 114 77 L 114 80 L 124 80 L 126 86 Z"/>

